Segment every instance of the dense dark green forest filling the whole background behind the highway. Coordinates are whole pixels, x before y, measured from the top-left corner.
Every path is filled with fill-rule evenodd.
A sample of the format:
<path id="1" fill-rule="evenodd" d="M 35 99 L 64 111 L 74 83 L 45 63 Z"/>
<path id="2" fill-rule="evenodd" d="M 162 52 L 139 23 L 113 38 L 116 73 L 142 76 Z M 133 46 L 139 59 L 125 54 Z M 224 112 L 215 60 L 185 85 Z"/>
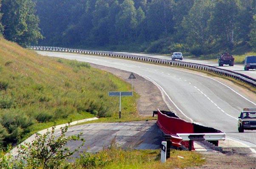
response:
<path id="1" fill-rule="evenodd" d="M 256 0 L 2 0 L 0 31 L 23 46 L 181 51 L 256 50 Z"/>

